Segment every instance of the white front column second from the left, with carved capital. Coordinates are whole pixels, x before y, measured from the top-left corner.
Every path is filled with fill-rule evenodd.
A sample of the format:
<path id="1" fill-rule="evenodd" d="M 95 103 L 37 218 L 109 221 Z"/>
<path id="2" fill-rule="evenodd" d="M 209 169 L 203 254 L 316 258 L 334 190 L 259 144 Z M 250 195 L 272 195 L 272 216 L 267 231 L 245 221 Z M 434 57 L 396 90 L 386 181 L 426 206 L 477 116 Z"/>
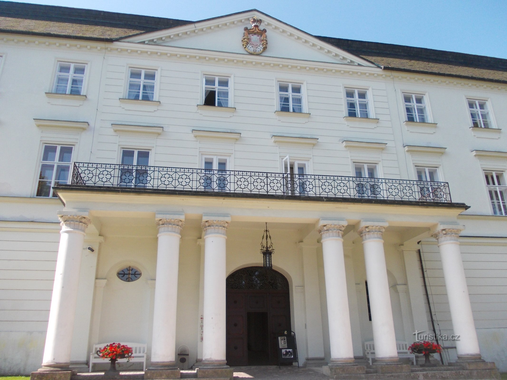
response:
<path id="1" fill-rule="evenodd" d="M 179 240 L 185 220 L 158 218 L 157 274 L 150 369 L 176 369 Z"/>

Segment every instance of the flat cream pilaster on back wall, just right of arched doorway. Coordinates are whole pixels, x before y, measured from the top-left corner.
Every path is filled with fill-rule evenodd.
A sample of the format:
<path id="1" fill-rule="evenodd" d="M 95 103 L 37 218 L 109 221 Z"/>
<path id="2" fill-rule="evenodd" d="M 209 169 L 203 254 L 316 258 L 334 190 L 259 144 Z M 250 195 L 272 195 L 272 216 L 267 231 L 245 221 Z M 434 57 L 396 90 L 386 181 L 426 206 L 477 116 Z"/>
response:
<path id="1" fill-rule="evenodd" d="M 324 339 L 320 314 L 320 291 L 317 270 L 317 241 L 298 243 L 303 253 L 306 316 L 306 365 L 324 363 Z"/>

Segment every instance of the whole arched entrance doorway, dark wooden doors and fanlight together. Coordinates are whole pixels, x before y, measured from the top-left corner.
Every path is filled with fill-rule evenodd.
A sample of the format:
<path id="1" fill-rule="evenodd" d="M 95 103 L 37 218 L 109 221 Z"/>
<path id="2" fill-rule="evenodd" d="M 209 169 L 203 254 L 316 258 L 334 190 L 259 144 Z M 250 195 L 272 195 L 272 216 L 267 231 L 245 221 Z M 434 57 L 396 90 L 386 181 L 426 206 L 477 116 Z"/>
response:
<path id="1" fill-rule="evenodd" d="M 278 364 L 277 335 L 291 331 L 287 279 L 264 267 L 233 272 L 227 288 L 227 364 Z"/>

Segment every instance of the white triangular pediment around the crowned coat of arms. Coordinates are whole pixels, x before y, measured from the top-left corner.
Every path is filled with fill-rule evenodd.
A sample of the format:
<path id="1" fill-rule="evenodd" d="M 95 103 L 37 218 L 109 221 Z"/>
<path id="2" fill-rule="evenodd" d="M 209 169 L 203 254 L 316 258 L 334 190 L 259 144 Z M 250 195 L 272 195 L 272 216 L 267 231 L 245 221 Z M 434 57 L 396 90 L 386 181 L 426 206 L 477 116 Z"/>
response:
<path id="1" fill-rule="evenodd" d="M 266 29 L 268 45 L 261 56 L 345 65 L 375 66 L 363 58 L 325 43 L 311 34 L 257 10 L 141 33 L 126 37 L 121 41 L 251 56 L 243 48 L 241 40 L 244 35 L 244 28 L 251 28 L 250 19 L 253 16 L 262 19 L 260 28 Z"/>

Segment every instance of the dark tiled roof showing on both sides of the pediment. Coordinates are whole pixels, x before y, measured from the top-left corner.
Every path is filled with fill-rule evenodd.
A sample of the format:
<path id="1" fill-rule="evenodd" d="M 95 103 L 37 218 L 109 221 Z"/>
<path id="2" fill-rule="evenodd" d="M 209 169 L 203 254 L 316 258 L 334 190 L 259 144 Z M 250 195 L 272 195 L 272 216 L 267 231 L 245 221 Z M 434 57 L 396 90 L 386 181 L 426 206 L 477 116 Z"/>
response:
<path id="1" fill-rule="evenodd" d="M 88 9 L 0 1 L 0 31 L 114 41 L 192 23 Z M 507 59 L 316 36 L 383 69 L 507 83 Z"/>

